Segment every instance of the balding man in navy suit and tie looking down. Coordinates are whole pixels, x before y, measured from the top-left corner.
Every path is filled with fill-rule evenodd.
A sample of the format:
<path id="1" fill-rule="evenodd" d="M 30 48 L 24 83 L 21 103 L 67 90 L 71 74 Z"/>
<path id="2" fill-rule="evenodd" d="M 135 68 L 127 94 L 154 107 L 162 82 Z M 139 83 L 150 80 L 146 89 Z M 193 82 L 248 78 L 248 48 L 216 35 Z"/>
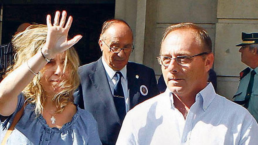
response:
<path id="1" fill-rule="evenodd" d="M 159 91 L 153 69 L 128 62 L 133 32 L 125 21 L 106 21 L 99 46 L 102 57 L 79 67 L 75 103 L 95 117 L 102 143 L 115 144 L 126 112 Z"/>

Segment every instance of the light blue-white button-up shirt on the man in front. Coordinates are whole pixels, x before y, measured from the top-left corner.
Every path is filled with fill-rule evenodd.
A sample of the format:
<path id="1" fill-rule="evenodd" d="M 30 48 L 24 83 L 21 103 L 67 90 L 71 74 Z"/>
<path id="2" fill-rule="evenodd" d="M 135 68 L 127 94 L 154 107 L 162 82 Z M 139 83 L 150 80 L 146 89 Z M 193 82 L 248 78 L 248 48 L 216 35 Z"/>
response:
<path id="1" fill-rule="evenodd" d="M 184 119 L 167 88 L 127 113 L 116 144 L 257 145 L 258 125 L 245 108 L 216 94 L 211 83 Z"/>

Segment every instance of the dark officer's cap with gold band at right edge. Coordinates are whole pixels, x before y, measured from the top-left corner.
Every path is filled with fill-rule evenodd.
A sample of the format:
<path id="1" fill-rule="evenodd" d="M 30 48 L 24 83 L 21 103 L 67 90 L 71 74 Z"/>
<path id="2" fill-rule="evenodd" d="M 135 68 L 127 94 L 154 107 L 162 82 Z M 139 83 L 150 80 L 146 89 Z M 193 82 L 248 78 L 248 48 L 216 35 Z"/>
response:
<path id="1" fill-rule="evenodd" d="M 258 33 L 242 32 L 242 43 L 236 46 L 243 46 L 246 44 L 258 44 Z"/>

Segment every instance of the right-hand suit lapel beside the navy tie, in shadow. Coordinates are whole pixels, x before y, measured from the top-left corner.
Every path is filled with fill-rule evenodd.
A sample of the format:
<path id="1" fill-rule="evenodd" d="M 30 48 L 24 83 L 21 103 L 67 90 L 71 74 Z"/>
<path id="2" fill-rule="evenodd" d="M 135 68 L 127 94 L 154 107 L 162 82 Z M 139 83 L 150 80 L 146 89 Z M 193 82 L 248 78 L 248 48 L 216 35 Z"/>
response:
<path id="1" fill-rule="evenodd" d="M 139 88 L 138 79 L 136 78 L 138 74 L 135 74 L 135 70 L 133 70 L 131 63 L 127 64 L 127 81 L 128 81 L 128 96 L 129 96 L 129 110 L 133 108 L 136 104 L 138 104 L 139 99 Z"/>

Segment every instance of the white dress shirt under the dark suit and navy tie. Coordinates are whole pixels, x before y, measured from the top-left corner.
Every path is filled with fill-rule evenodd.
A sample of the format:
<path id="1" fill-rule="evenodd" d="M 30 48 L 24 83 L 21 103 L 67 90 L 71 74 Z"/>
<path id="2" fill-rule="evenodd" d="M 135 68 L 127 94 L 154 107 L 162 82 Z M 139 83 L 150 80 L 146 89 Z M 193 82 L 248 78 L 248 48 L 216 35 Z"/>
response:
<path id="1" fill-rule="evenodd" d="M 105 62 L 104 58 L 101 57 L 102 60 L 102 64 L 104 66 L 104 69 L 106 71 L 106 76 L 108 78 L 108 83 L 112 92 L 112 95 L 114 95 L 114 88 L 115 88 L 115 84 L 116 84 L 116 71 L 114 71 L 110 66 L 108 66 L 108 64 Z M 122 83 L 122 87 L 123 87 L 123 91 L 124 91 L 124 95 L 125 95 L 125 112 L 128 112 L 129 110 L 129 97 L 128 97 L 128 82 L 127 82 L 127 76 L 126 76 L 126 65 L 123 69 L 120 70 L 120 72 L 122 73 L 123 77 L 121 78 L 121 83 Z"/>

